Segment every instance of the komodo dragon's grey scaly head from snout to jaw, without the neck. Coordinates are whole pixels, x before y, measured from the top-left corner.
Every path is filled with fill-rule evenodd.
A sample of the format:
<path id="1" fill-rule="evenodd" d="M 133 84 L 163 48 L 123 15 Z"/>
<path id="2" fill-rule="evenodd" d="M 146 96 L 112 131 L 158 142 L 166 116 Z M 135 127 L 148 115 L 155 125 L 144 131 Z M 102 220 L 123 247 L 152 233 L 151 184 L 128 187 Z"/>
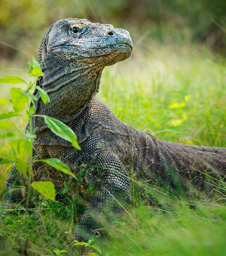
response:
<path id="1" fill-rule="evenodd" d="M 112 65 L 127 59 L 133 43 L 128 31 L 87 19 L 67 18 L 53 23 L 39 49 L 39 61 L 58 59 L 85 67 Z"/>

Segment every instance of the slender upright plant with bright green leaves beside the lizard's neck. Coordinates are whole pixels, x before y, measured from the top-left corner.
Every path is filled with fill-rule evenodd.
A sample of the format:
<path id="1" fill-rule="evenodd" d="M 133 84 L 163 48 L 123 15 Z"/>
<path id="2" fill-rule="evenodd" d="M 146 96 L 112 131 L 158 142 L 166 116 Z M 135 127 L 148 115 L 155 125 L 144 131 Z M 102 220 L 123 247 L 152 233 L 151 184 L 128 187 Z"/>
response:
<path id="1" fill-rule="evenodd" d="M 37 101 L 38 99 L 34 94 L 32 94 L 31 91 L 35 88 L 38 91 L 44 104 L 48 104 L 48 102 L 50 102 L 50 99 L 48 94 L 42 88 L 36 86 L 37 77 L 43 76 L 43 73 L 41 71 L 39 63 L 34 58 L 29 63 L 29 74 L 30 76 L 35 77 L 33 82 L 27 83 L 26 81 L 24 81 L 24 79 L 15 76 L 3 77 L 0 79 L 0 83 L 23 83 L 27 86 L 25 90 L 22 90 L 22 88 L 11 88 L 11 104 L 14 111 L 3 111 L 3 113 L 0 114 L 0 120 L 22 115 L 21 111 L 23 111 L 27 106 L 25 116 L 27 117 L 29 123 L 29 129 L 25 130 L 22 138 L 11 140 L 9 142 L 9 146 L 13 148 L 15 154 L 12 156 L 8 153 L 5 153 L 4 156 L 0 156 L 0 164 L 15 163 L 16 169 L 23 174 L 25 179 L 28 179 L 28 187 L 33 187 L 47 199 L 55 201 L 56 191 L 54 184 L 51 181 L 37 181 L 31 183 L 33 177 L 32 164 L 36 161 L 42 161 L 59 170 L 60 172 L 71 175 L 72 177 L 75 176 L 73 173 L 71 173 L 70 168 L 66 164 L 62 163 L 59 159 L 49 158 L 32 160 L 32 141 L 36 138 L 36 128 L 32 129 L 32 116 L 42 117 L 44 119 L 44 122 L 47 124 L 47 127 L 50 128 L 53 133 L 71 142 L 72 146 L 74 146 L 75 148 L 80 149 L 80 147 L 77 143 L 76 134 L 66 124 L 60 122 L 55 118 L 51 118 L 50 116 L 35 114 L 35 101 Z M 1 99 L 1 103 L 8 104 L 8 102 L 4 99 Z M 7 190 L 7 192 L 10 191 Z"/>

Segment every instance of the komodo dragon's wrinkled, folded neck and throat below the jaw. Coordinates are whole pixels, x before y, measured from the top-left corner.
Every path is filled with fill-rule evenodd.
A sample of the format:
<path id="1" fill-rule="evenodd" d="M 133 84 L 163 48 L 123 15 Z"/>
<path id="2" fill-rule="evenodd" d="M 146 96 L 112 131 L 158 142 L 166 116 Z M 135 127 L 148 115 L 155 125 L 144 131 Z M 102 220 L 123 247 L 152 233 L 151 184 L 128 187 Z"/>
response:
<path id="1" fill-rule="evenodd" d="M 61 75 L 57 76 L 51 76 L 56 70 L 43 69 L 40 86 L 48 93 L 50 102 L 44 104 L 38 95 L 36 114 L 52 116 L 62 122 L 75 119 L 99 91 L 102 69 L 74 65 L 66 67 L 64 72 L 61 70 Z"/>

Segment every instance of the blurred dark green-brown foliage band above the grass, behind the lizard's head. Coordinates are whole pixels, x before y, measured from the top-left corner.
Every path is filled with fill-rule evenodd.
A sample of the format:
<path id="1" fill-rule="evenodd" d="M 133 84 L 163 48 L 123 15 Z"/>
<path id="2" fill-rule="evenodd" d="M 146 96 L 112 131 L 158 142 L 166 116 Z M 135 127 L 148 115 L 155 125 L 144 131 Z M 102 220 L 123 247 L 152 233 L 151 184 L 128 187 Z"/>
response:
<path id="1" fill-rule="evenodd" d="M 125 28 L 143 48 L 150 38 L 159 44 L 204 42 L 225 54 L 225 15 L 224 0 L 0 0 L 0 58 L 37 58 L 44 31 L 67 17 Z"/>

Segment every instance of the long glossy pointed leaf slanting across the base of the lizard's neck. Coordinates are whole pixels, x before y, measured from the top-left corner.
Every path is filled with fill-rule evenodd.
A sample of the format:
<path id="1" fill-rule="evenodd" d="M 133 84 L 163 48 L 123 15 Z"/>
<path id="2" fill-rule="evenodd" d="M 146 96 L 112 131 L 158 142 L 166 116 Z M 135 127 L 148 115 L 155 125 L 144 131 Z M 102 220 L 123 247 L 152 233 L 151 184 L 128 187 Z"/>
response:
<path id="1" fill-rule="evenodd" d="M 70 141 L 73 147 L 79 150 L 81 149 L 79 147 L 79 144 L 77 143 L 77 136 L 70 127 L 68 127 L 66 124 L 50 116 L 46 116 L 46 115 L 42 115 L 42 116 L 44 118 L 44 122 L 47 124 L 48 128 L 50 128 L 50 130 L 53 133 L 60 136 L 66 141 Z"/>

